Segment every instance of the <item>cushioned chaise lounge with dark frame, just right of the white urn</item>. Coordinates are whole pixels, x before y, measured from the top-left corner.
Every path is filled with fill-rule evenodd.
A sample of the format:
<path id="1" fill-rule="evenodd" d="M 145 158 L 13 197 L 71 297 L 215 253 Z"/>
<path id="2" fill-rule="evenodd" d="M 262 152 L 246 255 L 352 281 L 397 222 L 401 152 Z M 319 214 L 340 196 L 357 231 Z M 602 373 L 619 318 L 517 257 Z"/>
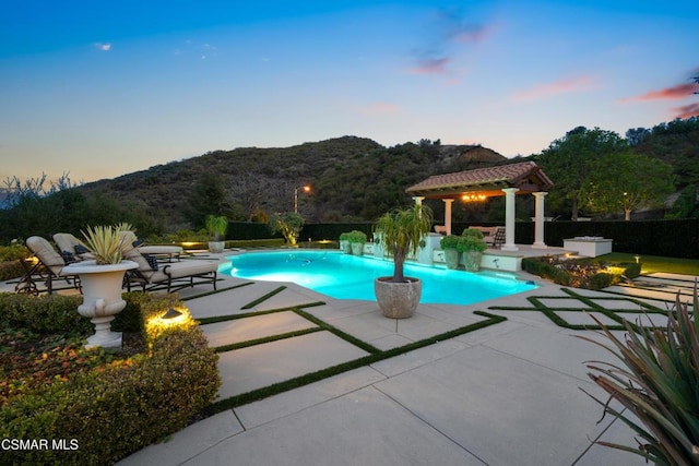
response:
<path id="1" fill-rule="evenodd" d="M 194 285 L 213 285 L 216 289 L 216 272 L 218 263 L 205 260 L 183 260 L 180 262 L 158 263 L 152 255 L 144 255 L 139 248 L 131 244 L 135 241 L 135 235 L 128 231 L 125 235 L 123 259 L 139 264 L 138 268 L 127 272 L 126 286 L 140 285 L 143 291 L 166 289 L 167 292 L 176 291 Z"/>

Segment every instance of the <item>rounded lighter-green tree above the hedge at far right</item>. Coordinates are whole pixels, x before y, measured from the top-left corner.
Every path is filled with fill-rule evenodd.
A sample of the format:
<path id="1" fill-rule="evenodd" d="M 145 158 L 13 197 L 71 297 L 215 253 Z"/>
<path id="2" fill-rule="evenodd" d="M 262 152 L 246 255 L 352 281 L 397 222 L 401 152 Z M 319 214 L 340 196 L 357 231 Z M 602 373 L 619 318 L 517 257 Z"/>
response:
<path id="1" fill-rule="evenodd" d="M 585 184 L 584 206 L 601 214 L 624 211 L 624 219 L 630 220 L 639 207 L 663 204 L 674 191 L 672 172 L 670 165 L 645 155 L 604 155 Z"/>

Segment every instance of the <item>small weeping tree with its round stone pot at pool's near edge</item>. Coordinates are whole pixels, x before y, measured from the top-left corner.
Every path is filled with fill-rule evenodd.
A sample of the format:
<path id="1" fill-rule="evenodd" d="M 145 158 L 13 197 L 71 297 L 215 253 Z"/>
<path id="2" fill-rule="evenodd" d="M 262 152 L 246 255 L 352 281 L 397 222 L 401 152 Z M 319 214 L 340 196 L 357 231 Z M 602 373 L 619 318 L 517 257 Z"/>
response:
<path id="1" fill-rule="evenodd" d="M 393 276 L 374 280 L 376 300 L 387 318 L 410 318 L 417 309 L 423 284 L 418 278 L 404 276 L 403 265 L 408 254 L 417 254 L 431 224 L 431 210 L 415 204 L 383 214 L 375 226 L 383 250 L 393 255 Z"/>

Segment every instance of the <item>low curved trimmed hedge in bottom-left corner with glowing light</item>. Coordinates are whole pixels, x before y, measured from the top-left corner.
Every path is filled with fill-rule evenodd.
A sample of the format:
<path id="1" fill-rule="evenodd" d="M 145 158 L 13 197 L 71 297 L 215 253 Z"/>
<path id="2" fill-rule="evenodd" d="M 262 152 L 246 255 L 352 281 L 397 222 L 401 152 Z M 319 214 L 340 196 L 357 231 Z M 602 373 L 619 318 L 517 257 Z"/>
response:
<path id="1" fill-rule="evenodd" d="M 150 353 L 131 358 L 129 365 L 75 374 L 11 399 L 0 408 L 0 438 L 45 439 L 49 449 L 3 451 L 3 464 L 114 464 L 182 429 L 215 398 L 221 384 L 217 355 L 196 322 L 186 313 L 177 325 L 155 323 L 169 307 L 183 310 L 183 304 L 145 294 L 126 294 L 125 299 L 128 306 L 121 313 L 138 310 Z M 60 304 L 67 308 L 68 301 Z M 48 315 L 54 313 L 60 312 Z M 122 324 L 129 325 L 129 319 Z M 69 449 L 50 449 L 61 440 Z"/>

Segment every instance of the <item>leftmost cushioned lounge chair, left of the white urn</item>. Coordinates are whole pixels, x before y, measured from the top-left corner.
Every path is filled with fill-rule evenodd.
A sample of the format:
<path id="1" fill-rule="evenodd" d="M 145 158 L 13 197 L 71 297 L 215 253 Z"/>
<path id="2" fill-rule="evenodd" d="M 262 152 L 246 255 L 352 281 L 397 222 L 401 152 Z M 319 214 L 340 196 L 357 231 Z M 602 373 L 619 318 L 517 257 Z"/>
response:
<path id="1" fill-rule="evenodd" d="M 66 274 L 63 272 L 67 263 L 61 254 L 51 246 L 46 238 L 32 236 L 26 239 L 26 247 L 32 251 L 34 256 L 38 259 L 34 265 L 28 267 L 22 282 L 25 284 L 17 292 L 31 292 L 38 295 L 40 292 L 37 282 L 44 282 L 46 291 L 50 295 L 55 289 L 54 282 L 56 279 L 64 279 L 72 288 L 80 288 L 80 279 L 76 275 Z"/>

